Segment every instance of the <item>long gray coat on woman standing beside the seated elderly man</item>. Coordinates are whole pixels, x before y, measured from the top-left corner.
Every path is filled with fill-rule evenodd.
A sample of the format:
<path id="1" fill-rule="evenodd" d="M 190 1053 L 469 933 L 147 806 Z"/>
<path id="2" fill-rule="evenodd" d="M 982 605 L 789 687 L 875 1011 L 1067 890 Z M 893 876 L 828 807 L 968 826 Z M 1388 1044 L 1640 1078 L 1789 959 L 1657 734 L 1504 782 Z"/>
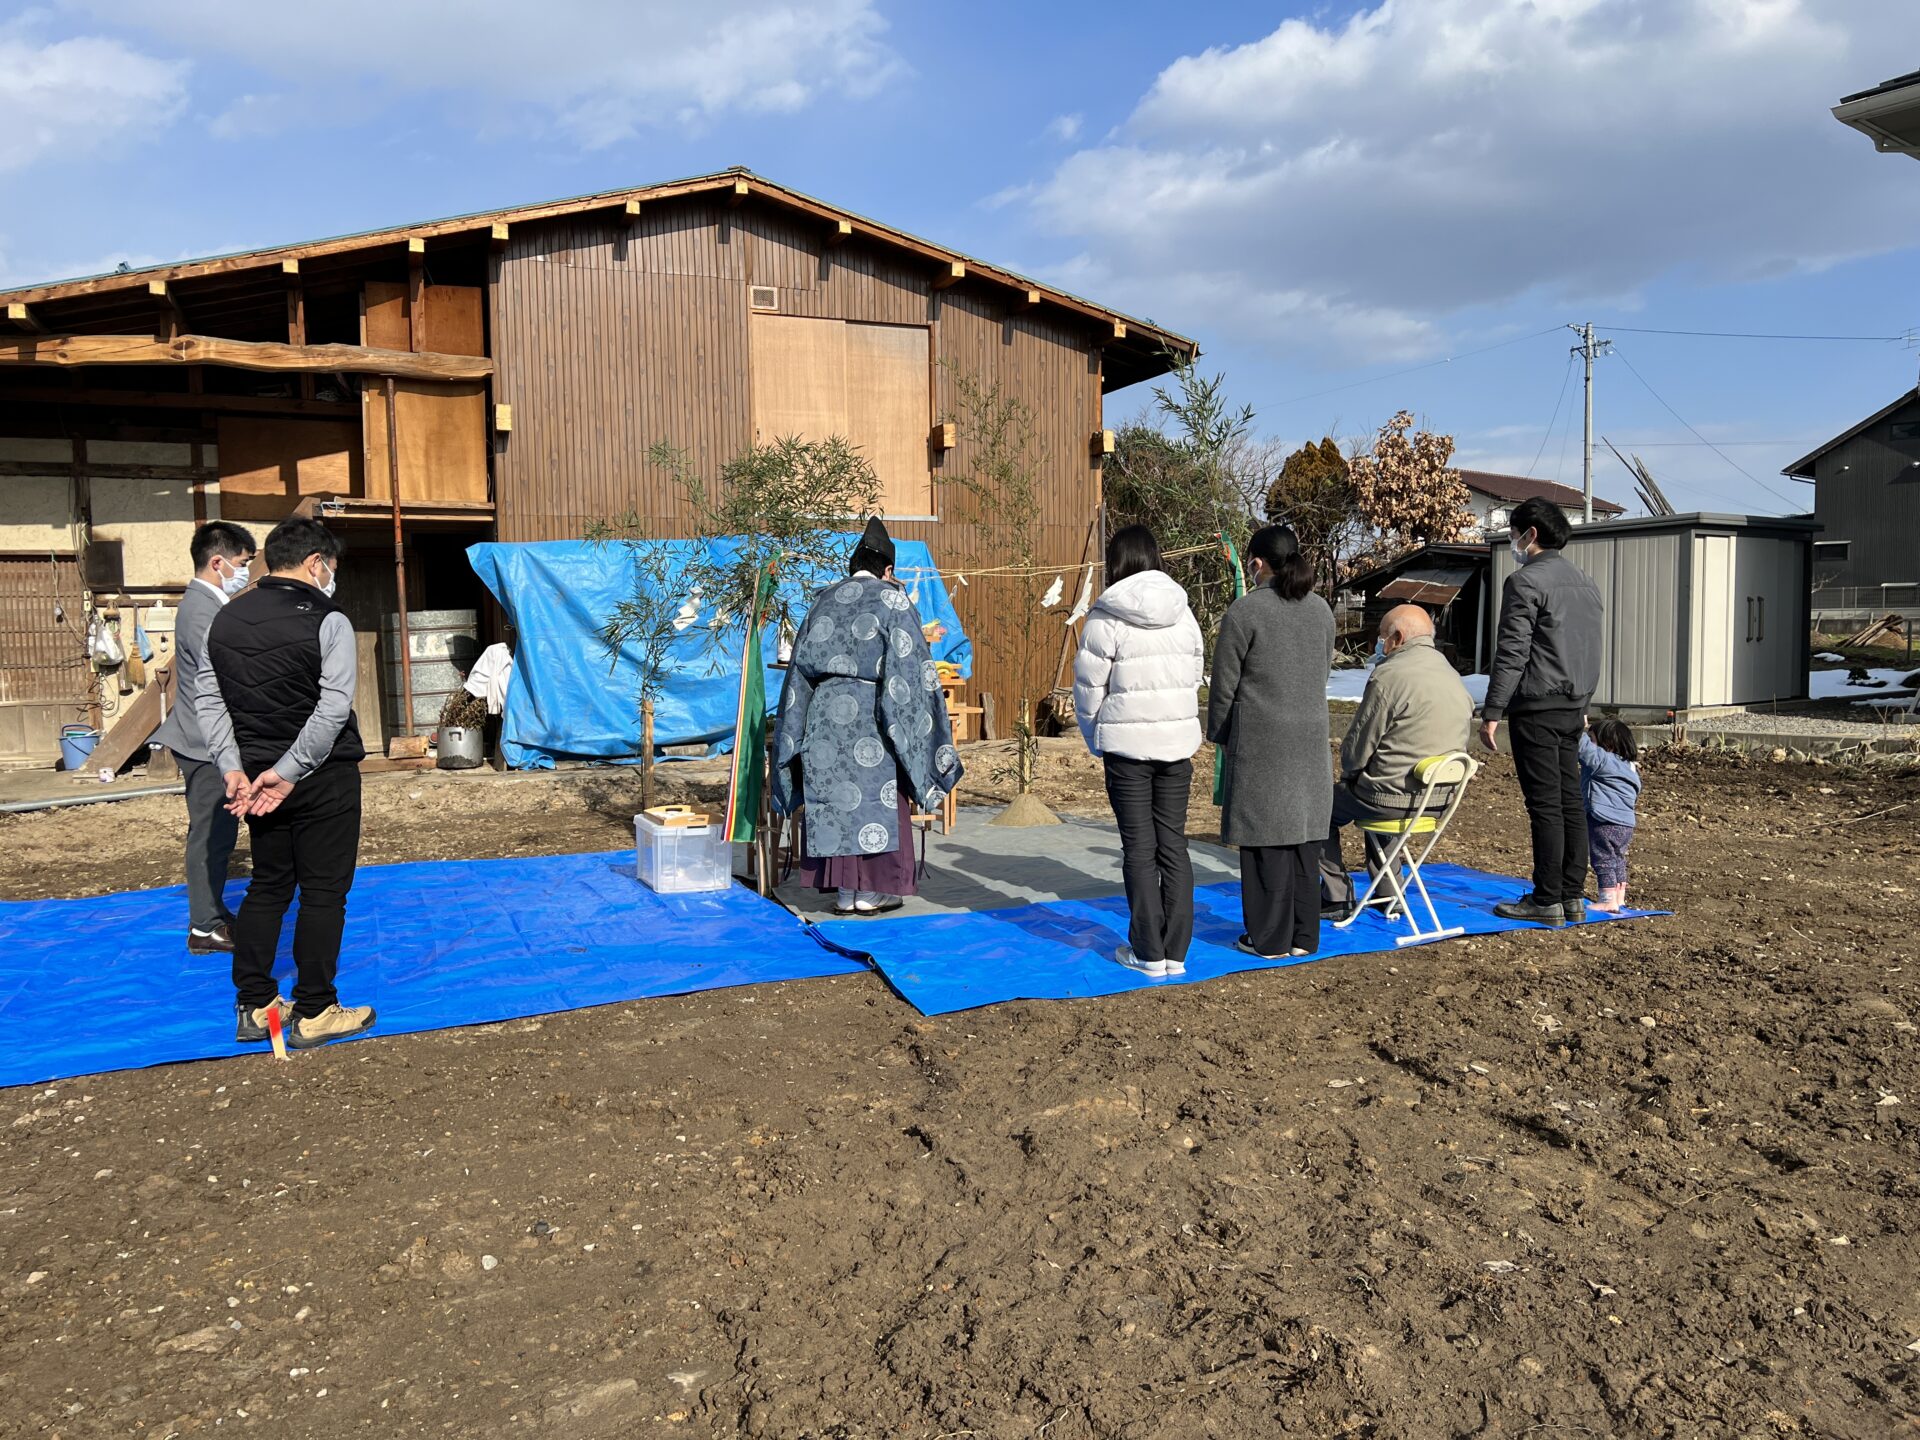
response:
<path id="1" fill-rule="evenodd" d="M 1281 599 L 1260 586 L 1227 607 L 1213 645 L 1208 739 L 1227 751 L 1229 845 L 1327 839 L 1332 755 L 1327 674 L 1332 611 L 1319 595 Z"/>

